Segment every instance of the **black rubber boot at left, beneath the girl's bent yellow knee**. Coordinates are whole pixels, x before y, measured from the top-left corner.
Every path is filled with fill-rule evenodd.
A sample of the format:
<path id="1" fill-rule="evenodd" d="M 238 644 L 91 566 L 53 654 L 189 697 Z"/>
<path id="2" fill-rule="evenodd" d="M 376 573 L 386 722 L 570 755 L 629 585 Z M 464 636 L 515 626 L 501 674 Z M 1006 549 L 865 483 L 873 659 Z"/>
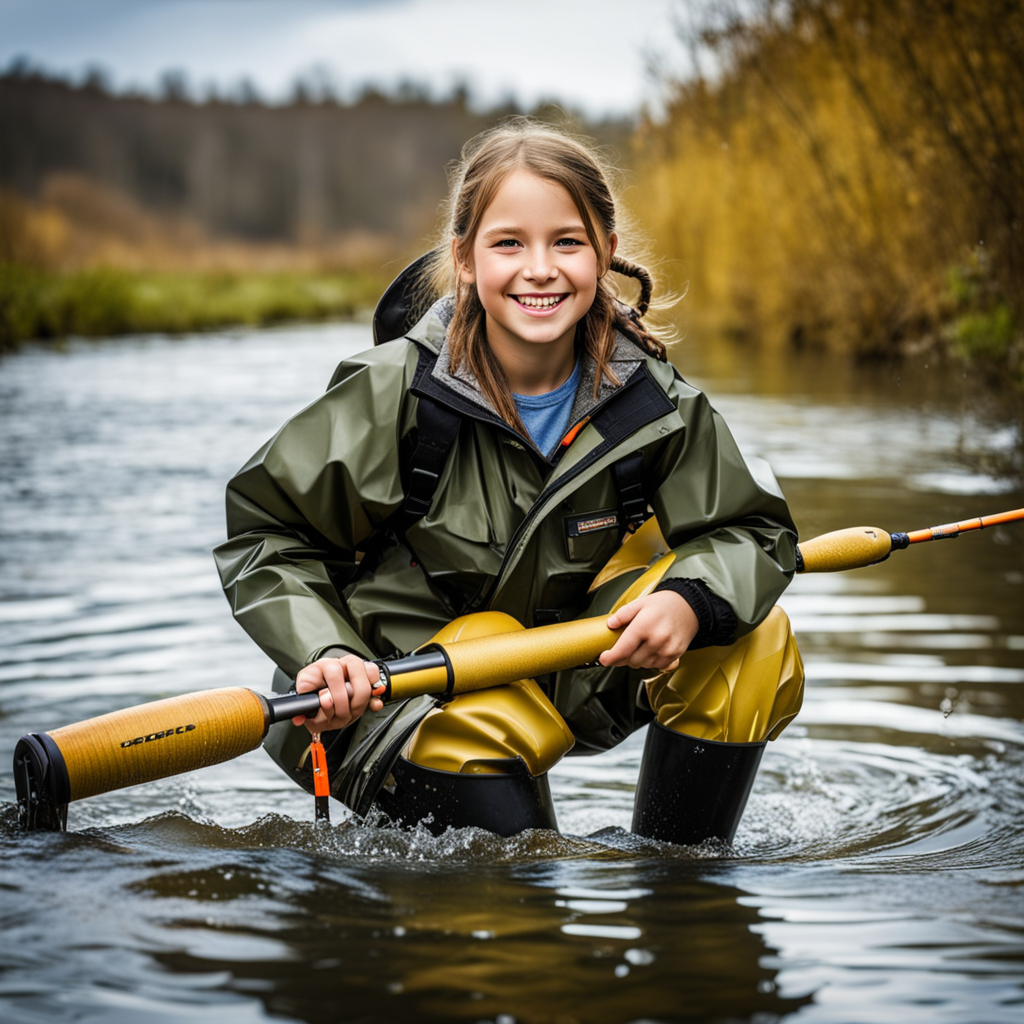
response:
<path id="1" fill-rule="evenodd" d="M 504 774 L 466 774 L 424 768 L 399 758 L 391 769 L 393 788 L 385 787 L 375 803 L 393 821 L 423 821 L 435 836 L 450 825 L 473 825 L 499 836 L 525 828 L 558 828 L 548 776 L 530 775 L 519 759 L 507 762 Z"/>

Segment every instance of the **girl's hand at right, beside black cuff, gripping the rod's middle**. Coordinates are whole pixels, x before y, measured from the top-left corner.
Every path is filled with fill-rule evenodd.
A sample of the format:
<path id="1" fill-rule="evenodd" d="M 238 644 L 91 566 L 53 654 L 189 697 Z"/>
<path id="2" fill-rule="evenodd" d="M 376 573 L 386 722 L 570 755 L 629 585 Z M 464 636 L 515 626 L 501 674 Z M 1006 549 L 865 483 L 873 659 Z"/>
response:
<path id="1" fill-rule="evenodd" d="M 624 604 L 608 617 L 608 629 L 626 627 L 601 665 L 631 669 L 674 670 L 697 634 L 699 624 L 686 599 L 673 590 L 659 590 Z"/>

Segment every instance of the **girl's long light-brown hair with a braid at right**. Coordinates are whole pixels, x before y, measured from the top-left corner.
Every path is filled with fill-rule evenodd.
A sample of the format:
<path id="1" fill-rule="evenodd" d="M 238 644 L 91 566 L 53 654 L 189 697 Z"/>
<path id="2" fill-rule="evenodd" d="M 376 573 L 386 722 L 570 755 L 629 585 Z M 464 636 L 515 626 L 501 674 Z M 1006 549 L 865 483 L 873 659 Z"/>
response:
<path id="1" fill-rule="evenodd" d="M 643 324 L 650 306 L 650 273 L 618 256 L 608 259 L 608 240 L 615 230 L 615 201 L 608 173 L 596 153 L 580 139 L 525 118 L 482 132 L 466 143 L 452 176 L 447 218 L 434 250 L 430 286 L 434 294 L 455 295 L 455 313 L 447 329 L 453 369 L 468 366 L 502 419 L 525 433 L 505 372 L 486 343 L 485 316 L 476 286 L 460 279 L 452 252 L 453 239 L 462 252 L 472 247 L 490 201 L 505 179 L 520 169 L 553 181 L 569 194 L 598 254 L 597 295 L 577 327 L 579 344 L 597 367 L 595 395 L 602 377 L 614 385 L 620 383 L 610 367 L 616 329 L 635 338 L 655 358 L 664 361 L 667 356 L 665 343 Z M 617 292 L 608 283 L 608 270 L 639 282 L 635 310 L 617 300 Z"/>

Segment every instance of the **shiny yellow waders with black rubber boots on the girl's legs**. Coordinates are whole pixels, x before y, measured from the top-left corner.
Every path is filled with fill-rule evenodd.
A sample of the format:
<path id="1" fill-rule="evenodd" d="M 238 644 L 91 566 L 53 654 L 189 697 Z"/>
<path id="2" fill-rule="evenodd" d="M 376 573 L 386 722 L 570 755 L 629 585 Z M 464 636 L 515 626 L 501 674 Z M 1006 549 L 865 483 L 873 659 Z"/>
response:
<path id="1" fill-rule="evenodd" d="M 667 548 L 656 522 L 648 520 L 627 539 L 594 588 L 646 567 Z M 486 613 L 476 625 L 474 617 L 460 621 L 462 638 L 486 635 Z M 467 623 L 472 634 L 466 632 Z M 453 638 L 442 631 L 434 639 L 443 643 Z M 736 643 L 689 651 L 675 671 L 648 680 L 656 721 L 641 767 L 634 830 L 676 843 L 730 841 L 765 741 L 776 738 L 796 717 L 803 682 L 790 621 L 778 607 Z M 423 797 L 421 809 L 429 808 L 431 800 L 442 796 L 441 790 L 450 799 L 458 791 L 468 792 L 458 776 L 479 777 L 479 800 L 500 803 L 506 800 L 499 793 L 505 777 L 516 780 L 517 792 L 524 786 L 537 791 L 543 809 L 530 812 L 529 795 L 524 793 L 523 807 L 515 813 L 510 807 L 493 807 L 484 812 L 490 822 L 485 824 L 479 800 L 467 797 L 459 801 L 465 812 L 457 815 L 461 823 L 502 835 L 522 827 L 553 827 L 546 773 L 572 743 L 568 726 L 534 680 L 461 693 L 420 723 L 378 803 L 394 816 L 396 790 L 403 792 L 404 805 L 412 787 Z M 420 807 L 421 801 L 415 803 Z M 408 812 L 399 816 L 412 817 Z M 444 818 L 436 821 L 439 827 L 456 823 L 446 813 Z"/>

